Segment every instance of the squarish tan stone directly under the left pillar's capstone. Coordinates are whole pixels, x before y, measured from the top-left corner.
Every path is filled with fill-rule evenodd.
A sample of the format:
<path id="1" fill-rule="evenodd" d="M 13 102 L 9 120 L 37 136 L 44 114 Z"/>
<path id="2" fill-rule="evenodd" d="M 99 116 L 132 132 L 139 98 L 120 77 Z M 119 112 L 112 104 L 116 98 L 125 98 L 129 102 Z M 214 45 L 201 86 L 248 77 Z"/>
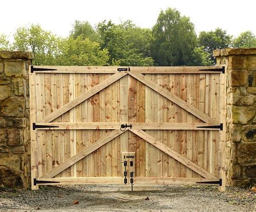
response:
<path id="1" fill-rule="evenodd" d="M 26 76 L 26 67 L 24 61 L 5 61 L 4 73 L 6 76 Z"/>

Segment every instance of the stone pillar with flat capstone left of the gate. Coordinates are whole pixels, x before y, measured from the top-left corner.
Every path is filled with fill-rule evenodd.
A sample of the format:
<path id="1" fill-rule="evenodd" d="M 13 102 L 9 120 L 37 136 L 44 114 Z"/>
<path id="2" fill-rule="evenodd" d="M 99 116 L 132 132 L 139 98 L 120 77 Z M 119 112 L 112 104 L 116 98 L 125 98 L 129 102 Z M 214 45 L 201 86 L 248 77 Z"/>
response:
<path id="1" fill-rule="evenodd" d="M 0 51 L 0 187 L 30 185 L 29 52 Z"/>

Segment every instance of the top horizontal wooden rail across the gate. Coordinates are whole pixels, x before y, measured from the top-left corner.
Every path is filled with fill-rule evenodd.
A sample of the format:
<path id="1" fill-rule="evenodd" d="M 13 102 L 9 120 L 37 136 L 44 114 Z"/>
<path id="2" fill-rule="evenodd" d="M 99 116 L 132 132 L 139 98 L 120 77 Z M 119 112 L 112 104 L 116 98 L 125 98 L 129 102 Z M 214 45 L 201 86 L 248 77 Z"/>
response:
<path id="1" fill-rule="evenodd" d="M 47 68 L 57 70 L 35 70 L 34 73 L 95 73 L 95 74 L 114 74 L 118 73 L 118 68 L 129 68 L 120 66 L 33 66 L 34 68 Z M 221 66 L 205 66 L 204 69 L 222 68 Z M 177 66 L 177 67 L 130 67 L 130 71 L 122 73 L 140 74 L 220 74 L 222 72 L 211 70 L 200 70 L 202 66 Z"/>

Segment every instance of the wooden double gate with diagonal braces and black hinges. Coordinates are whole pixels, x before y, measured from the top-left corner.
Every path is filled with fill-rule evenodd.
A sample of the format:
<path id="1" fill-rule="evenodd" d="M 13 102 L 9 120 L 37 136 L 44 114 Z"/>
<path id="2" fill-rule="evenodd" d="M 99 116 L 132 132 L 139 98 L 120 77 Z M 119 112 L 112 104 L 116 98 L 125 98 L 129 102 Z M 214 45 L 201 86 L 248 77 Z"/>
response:
<path id="1" fill-rule="evenodd" d="M 135 185 L 209 183 L 224 190 L 224 73 L 31 66 L 32 189 L 124 183 L 123 162 L 132 160 L 128 183 L 134 172 Z"/>

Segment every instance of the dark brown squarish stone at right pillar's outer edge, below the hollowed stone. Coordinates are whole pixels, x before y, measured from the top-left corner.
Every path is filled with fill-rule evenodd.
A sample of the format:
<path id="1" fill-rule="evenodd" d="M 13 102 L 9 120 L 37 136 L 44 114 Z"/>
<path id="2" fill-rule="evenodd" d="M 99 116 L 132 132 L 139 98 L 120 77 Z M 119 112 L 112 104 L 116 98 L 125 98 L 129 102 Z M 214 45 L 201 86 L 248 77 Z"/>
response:
<path id="1" fill-rule="evenodd" d="M 256 143 L 240 143 L 237 149 L 238 164 L 256 162 Z"/>

